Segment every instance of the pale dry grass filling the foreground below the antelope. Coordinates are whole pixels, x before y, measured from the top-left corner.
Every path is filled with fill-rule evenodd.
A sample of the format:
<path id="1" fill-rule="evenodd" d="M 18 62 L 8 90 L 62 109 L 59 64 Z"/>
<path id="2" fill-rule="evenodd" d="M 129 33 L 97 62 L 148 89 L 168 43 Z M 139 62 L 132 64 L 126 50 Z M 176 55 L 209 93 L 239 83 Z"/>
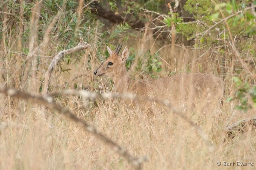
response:
<path id="1" fill-rule="evenodd" d="M 1 120 L 9 124 L 1 128 L 1 169 L 132 168 L 100 141 L 58 114 L 52 112 L 45 121 L 38 106 L 4 96 L 1 99 L 6 103 L 1 106 L 1 113 L 6 117 Z M 107 101 L 90 113 L 78 110 L 76 114 L 85 115 L 85 119 L 99 131 L 132 154 L 147 155 L 149 162 L 143 165 L 143 169 L 217 169 L 218 160 L 253 162 L 255 131 L 249 130 L 232 141 L 224 142 L 224 127 L 233 110 L 226 104 L 222 110 L 219 117 L 215 117 L 213 112 L 204 115 L 205 120 L 200 125 L 208 134 L 209 141 L 216 146 L 214 152 L 209 150 L 194 128 L 170 113 L 156 113 L 148 118 L 139 109 Z M 198 113 L 190 117 L 196 121 Z"/>

